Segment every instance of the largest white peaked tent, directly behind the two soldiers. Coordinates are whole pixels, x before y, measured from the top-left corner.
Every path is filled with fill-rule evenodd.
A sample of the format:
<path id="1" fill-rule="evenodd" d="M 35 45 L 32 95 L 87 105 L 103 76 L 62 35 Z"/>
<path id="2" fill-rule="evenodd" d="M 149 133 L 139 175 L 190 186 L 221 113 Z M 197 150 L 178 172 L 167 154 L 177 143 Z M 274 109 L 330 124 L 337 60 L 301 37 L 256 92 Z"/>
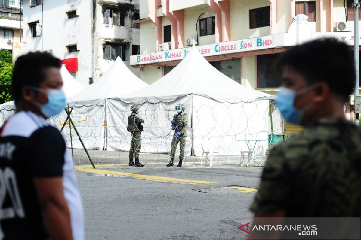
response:
<path id="1" fill-rule="evenodd" d="M 109 99 L 108 148 L 129 150 L 126 131 L 131 103 L 140 104 L 145 119 L 142 151 L 169 153 L 173 136 L 170 121 L 174 105 L 183 103 L 189 117 L 187 154 L 196 156 L 202 147 L 219 153 L 239 154 L 247 140 L 262 140 L 269 134 L 269 99 L 274 96 L 248 89 L 210 65 L 195 46 L 171 72 L 143 90 Z M 121 114 L 119 114 L 121 113 Z M 275 124 L 274 124 L 275 125 Z"/>

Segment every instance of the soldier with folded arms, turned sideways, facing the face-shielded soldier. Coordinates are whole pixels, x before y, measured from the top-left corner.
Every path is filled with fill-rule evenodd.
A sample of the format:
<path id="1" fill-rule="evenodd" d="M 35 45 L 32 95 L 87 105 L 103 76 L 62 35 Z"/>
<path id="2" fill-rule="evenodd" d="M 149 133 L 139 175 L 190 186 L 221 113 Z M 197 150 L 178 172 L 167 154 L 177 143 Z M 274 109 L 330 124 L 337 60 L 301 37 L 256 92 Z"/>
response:
<path id="1" fill-rule="evenodd" d="M 140 133 L 143 132 L 143 126 L 141 123 L 144 123 L 144 119 L 137 116 L 139 113 L 139 105 L 133 104 L 131 105 L 130 110 L 132 114 L 128 117 L 128 126 L 127 130 L 132 135 L 132 141 L 130 144 L 129 150 L 129 166 L 136 166 L 136 167 L 144 167 L 143 164 L 139 162 L 139 151 L 141 135 Z M 135 163 L 133 162 L 133 156 L 135 157 Z"/>

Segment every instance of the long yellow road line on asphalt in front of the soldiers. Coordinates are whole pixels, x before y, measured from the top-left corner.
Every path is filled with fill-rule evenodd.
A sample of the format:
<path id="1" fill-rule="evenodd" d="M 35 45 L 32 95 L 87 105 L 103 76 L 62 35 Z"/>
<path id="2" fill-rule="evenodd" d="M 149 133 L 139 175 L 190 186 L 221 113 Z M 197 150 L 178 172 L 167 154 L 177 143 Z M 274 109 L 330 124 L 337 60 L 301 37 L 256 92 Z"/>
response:
<path id="1" fill-rule="evenodd" d="M 151 181 L 159 181 L 159 182 L 172 182 L 172 183 L 190 184 L 190 185 L 215 184 L 215 182 L 211 182 L 211 181 L 201 181 L 201 180 L 191 180 L 191 179 L 175 178 L 175 177 L 161 177 L 161 176 L 152 176 L 152 175 L 142 175 L 142 174 L 129 173 L 129 172 L 118 172 L 118 171 L 110 171 L 110 170 L 102 170 L 102 169 L 84 168 L 82 166 L 76 166 L 75 170 L 84 171 L 84 172 L 98 173 L 98 174 L 111 174 L 111 175 L 118 175 L 118 176 L 129 176 L 129 177 L 132 177 L 132 178 L 135 178 L 135 179 L 151 180 Z"/>

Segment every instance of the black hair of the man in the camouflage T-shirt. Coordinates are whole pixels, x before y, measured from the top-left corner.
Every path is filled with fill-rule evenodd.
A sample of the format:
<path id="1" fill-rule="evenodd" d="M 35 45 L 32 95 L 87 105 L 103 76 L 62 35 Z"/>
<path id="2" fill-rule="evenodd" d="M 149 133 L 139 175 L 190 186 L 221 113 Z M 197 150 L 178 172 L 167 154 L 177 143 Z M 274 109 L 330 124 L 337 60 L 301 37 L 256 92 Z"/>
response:
<path id="1" fill-rule="evenodd" d="M 283 53 L 278 68 L 292 67 L 309 85 L 325 82 L 330 91 L 346 100 L 355 87 L 355 65 L 351 48 L 333 38 L 312 40 Z"/>

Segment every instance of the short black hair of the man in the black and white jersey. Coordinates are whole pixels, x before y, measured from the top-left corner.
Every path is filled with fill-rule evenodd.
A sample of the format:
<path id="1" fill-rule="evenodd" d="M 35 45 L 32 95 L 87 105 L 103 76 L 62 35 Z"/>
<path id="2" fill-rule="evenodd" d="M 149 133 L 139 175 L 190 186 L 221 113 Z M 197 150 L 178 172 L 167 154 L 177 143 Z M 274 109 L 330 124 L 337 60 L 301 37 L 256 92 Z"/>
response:
<path id="1" fill-rule="evenodd" d="M 15 104 L 22 99 L 23 86 L 39 87 L 46 78 L 44 69 L 50 67 L 61 68 L 60 59 L 51 54 L 39 52 L 19 56 L 15 62 L 12 77 Z"/>

